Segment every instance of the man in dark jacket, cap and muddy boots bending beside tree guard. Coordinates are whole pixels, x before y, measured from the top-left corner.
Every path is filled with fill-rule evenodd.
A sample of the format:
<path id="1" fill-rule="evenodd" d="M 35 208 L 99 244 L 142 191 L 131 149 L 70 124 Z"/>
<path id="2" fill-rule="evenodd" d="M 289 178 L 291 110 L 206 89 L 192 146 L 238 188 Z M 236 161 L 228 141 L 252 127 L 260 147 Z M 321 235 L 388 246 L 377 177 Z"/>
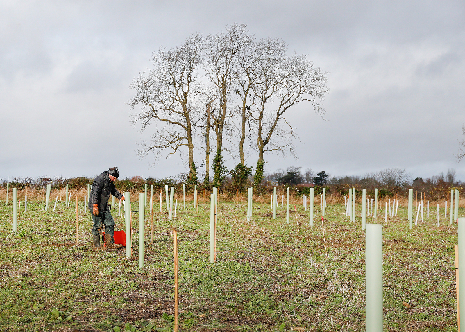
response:
<path id="1" fill-rule="evenodd" d="M 123 195 L 116 190 L 113 181 L 118 179 L 120 173 L 118 167 L 113 167 L 101 173 L 93 180 L 92 192 L 90 194 L 89 203 L 87 207 L 92 212 L 93 228 L 93 245 L 100 247 L 100 232 L 105 225 L 105 242 L 108 249 L 121 248 L 121 244 L 115 244 L 113 238 L 114 225 L 112 214 L 110 212 L 111 205 L 108 205 L 108 199 L 112 194 L 117 199 L 124 200 Z"/>

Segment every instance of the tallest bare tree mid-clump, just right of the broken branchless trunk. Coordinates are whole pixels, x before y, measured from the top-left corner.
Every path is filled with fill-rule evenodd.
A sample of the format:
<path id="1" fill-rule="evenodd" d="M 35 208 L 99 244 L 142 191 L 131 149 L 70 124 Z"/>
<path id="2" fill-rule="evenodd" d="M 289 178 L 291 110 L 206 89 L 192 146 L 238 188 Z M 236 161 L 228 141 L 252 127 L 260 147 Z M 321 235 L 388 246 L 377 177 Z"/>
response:
<path id="1" fill-rule="evenodd" d="M 216 134 L 216 154 L 213 159 L 213 183 L 218 186 L 226 173 L 223 166 L 223 138 L 228 112 L 230 91 L 238 76 L 238 59 L 252 43 L 252 36 L 246 24 L 233 24 L 226 27 L 226 32 L 206 37 L 206 76 L 218 90 L 218 112 L 212 114 Z"/>

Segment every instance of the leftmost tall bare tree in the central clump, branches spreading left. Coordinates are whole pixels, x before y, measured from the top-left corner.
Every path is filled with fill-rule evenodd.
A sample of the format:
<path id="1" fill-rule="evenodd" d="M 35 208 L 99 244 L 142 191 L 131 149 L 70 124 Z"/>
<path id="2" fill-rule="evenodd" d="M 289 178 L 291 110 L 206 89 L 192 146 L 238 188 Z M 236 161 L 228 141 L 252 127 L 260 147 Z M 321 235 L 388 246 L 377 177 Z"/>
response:
<path id="1" fill-rule="evenodd" d="M 128 102 L 132 109 L 141 105 L 140 113 L 131 114 L 134 124 L 141 122 L 140 132 L 152 122 L 156 126 L 152 139 L 141 141 L 138 155 L 144 157 L 153 151 L 156 162 L 159 152 L 169 149 L 169 157 L 180 147 L 187 146 L 191 183 L 197 182 L 193 130 L 199 116 L 196 96 L 200 87 L 196 70 L 202 60 L 202 51 L 203 40 L 199 33 L 190 35 L 181 46 L 160 49 L 153 55 L 155 69 L 134 80 L 131 87 L 136 90 L 136 95 Z"/>

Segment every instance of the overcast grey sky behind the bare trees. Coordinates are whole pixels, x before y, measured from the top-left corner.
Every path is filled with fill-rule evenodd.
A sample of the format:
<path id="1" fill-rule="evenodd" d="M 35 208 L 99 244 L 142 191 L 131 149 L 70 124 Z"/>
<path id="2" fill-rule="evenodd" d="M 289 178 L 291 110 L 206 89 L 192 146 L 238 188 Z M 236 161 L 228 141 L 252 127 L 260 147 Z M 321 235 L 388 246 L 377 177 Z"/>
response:
<path id="1" fill-rule="evenodd" d="M 465 160 L 453 155 L 465 122 L 465 2 L 447 0 L 2 0 L 0 178 L 186 172 L 179 157 L 152 168 L 153 156 L 136 157 L 150 133 L 130 122 L 129 85 L 160 46 L 234 22 L 328 72 L 327 120 L 309 105 L 290 111 L 299 159 L 268 155 L 267 172 L 401 167 L 426 178 L 455 168 L 465 180 Z"/>

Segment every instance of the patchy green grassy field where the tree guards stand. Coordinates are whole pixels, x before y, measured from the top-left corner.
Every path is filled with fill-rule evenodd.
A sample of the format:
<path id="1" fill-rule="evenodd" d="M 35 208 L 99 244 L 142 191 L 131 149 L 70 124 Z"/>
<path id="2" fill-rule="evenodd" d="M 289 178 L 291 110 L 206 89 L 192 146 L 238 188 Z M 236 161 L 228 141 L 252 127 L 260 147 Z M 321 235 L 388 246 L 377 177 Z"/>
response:
<path id="1" fill-rule="evenodd" d="M 80 202 L 82 210 L 82 202 Z M 133 253 L 93 249 L 91 215 L 44 202 L 21 208 L 12 232 L 12 205 L 0 206 L 0 329 L 3 331 L 172 331 L 173 238 L 168 214 L 154 215 L 153 244 L 146 218 L 145 266 L 138 268 L 138 213 Z M 314 227 L 300 205 L 286 225 L 269 205 L 219 205 L 217 262 L 209 261 L 209 205 L 179 208 L 181 331 L 365 331 L 365 236 L 344 205 L 326 209 L 325 255 L 321 212 Z M 280 208 L 280 206 L 279 206 Z M 134 209 L 135 210 L 135 209 Z M 360 206 L 357 206 L 360 211 Z M 407 210 L 382 222 L 385 331 L 457 331 L 454 244 L 457 224 L 435 212 L 411 230 Z M 459 215 L 464 215 L 460 209 Z M 123 229 L 118 211 L 113 216 Z M 300 234 L 299 234 L 300 232 Z M 405 302 L 405 304 L 403 304 Z"/>

